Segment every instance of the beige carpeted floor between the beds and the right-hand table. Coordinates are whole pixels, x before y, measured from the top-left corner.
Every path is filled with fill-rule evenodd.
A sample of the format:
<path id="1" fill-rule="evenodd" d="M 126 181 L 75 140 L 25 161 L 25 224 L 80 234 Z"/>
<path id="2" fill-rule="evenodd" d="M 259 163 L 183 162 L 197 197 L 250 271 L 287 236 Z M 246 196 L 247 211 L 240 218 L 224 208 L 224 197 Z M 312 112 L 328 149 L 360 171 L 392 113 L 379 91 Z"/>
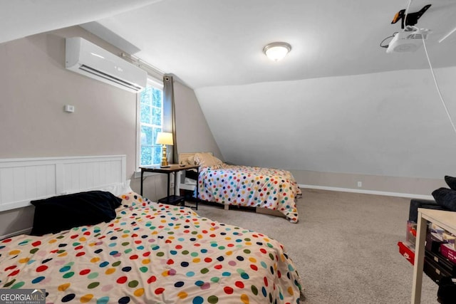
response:
<path id="1" fill-rule="evenodd" d="M 284 244 L 304 283 L 305 304 L 410 303 L 413 266 L 400 255 L 410 199 L 304 189 L 299 223 L 199 204 L 201 216 Z M 423 276 L 421 303 L 437 303 Z"/>

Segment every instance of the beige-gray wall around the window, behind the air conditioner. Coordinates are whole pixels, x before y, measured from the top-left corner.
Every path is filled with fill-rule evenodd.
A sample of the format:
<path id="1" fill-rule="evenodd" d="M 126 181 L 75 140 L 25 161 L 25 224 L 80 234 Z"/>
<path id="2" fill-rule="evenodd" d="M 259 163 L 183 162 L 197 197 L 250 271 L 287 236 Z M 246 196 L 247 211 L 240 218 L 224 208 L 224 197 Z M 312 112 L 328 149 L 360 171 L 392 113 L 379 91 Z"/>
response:
<path id="1" fill-rule="evenodd" d="M 127 178 L 140 192 L 136 95 L 66 70 L 64 38 L 71 36 L 119 53 L 78 26 L 0 44 L 0 158 L 126 154 Z M 193 91 L 180 83 L 175 89 L 181 151 L 202 147 L 219 154 Z M 64 112 L 66 104 L 75 112 Z M 152 200 L 165 196 L 165 176 L 147 177 L 144 187 Z M 27 229 L 32 220 L 33 207 L 1 212 L 0 236 Z"/>

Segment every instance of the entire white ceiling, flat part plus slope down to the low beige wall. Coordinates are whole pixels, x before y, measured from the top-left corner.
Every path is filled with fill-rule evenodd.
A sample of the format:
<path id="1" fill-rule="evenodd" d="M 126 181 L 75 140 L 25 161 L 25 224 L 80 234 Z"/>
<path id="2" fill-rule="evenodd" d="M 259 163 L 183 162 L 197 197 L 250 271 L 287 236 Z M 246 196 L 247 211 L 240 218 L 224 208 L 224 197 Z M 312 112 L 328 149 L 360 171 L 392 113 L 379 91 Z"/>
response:
<path id="1" fill-rule="evenodd" d="M 418 21 L 434 68 L 456 66 L 456 1 Z M 0 43 L 96 21 L 134 55 L 195 89 L 226 160 L 408 177 L 456 171 L 455 134 L 421 48 L 385 53 L 408 0 L 0 1 Z M 92 25 L 95 23 L 92 23 Z M 285 41 L 277 63 L 262 49 Z M 388 44 L 387 39 L 384 43 Z M 120 45 L 119 45 L 120 46 Z M 123 47 L 120 47 L 123 48 Z M 444 77 L 445 76 L 445 77 Z M 456 113 L 456 68 L 437 75 Z M 456 115 L 455 115 L 456 117 Z M 271 140 L 272 139 L 272 140 Z M 264 153 L 264 151 L 267 153 Z M 284 157 L 286 155 L 286 157 Z M 438 159 L 436 161 L 435 159 Z"/>

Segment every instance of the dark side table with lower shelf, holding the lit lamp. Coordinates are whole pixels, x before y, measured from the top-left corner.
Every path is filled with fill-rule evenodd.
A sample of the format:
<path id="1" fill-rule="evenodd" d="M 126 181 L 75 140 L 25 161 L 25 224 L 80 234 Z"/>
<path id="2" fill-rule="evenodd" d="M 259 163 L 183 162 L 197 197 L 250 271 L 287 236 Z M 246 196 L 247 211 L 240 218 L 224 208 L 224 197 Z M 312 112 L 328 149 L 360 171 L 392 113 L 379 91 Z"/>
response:
<path id="1" fill-rule="evenodd" d="M 163 197 L 162 199 L 159 199 L 159 203 L 165 203 L 165 204 L 180 204 L 184 203 L 183 206 L 185 206 L 185 196 L 180 196 L 177 195 L 176 193 L 176 187 L 177 187 L 177 172 L 184 171 L 184 170 L 189 170 L 189 169 L 199 169 L 199 166 L 197 165 L 190 165 L 186 164 L 185 166 L 181 164 L 170 164 L 169 167 L 160 167 L 160 166 L 143 166 L 140 167 L 141 169 L 141 192 L 140 194 L 142 195 L 142 182 L 144 181 L 144 172 L 155 172 L 155 173 L 165 173 L 167 174 L 167 196 Z M 174 175 L 174 193 L 173 195 L 170 195 L 170 175 L 171 173 L 175 173 Z M 198 172 L 197 172 L 198 173 Z M 198 175 L 198 174 L 197 174 Z M 197 181 L 198 184 L 198 181 Z M 196 199 L 196 206 L 190 208 L 198 209 L 198 187 L 197 187 L 197 199 Z"/>

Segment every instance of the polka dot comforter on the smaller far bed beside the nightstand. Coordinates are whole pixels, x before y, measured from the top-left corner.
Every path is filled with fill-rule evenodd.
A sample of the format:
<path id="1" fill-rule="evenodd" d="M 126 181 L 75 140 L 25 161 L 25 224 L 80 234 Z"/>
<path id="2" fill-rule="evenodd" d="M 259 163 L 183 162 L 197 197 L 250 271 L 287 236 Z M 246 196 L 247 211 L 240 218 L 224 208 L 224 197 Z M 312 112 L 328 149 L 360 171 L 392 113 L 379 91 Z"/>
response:
<path id="1" fill-rule="evenodd" d="M 222 164 L 200 168 L 198 183 L 204 201 L 277 210 L 291 223 L 299 219 L 296 196 L 301 189 L 289 171 Z"/>

